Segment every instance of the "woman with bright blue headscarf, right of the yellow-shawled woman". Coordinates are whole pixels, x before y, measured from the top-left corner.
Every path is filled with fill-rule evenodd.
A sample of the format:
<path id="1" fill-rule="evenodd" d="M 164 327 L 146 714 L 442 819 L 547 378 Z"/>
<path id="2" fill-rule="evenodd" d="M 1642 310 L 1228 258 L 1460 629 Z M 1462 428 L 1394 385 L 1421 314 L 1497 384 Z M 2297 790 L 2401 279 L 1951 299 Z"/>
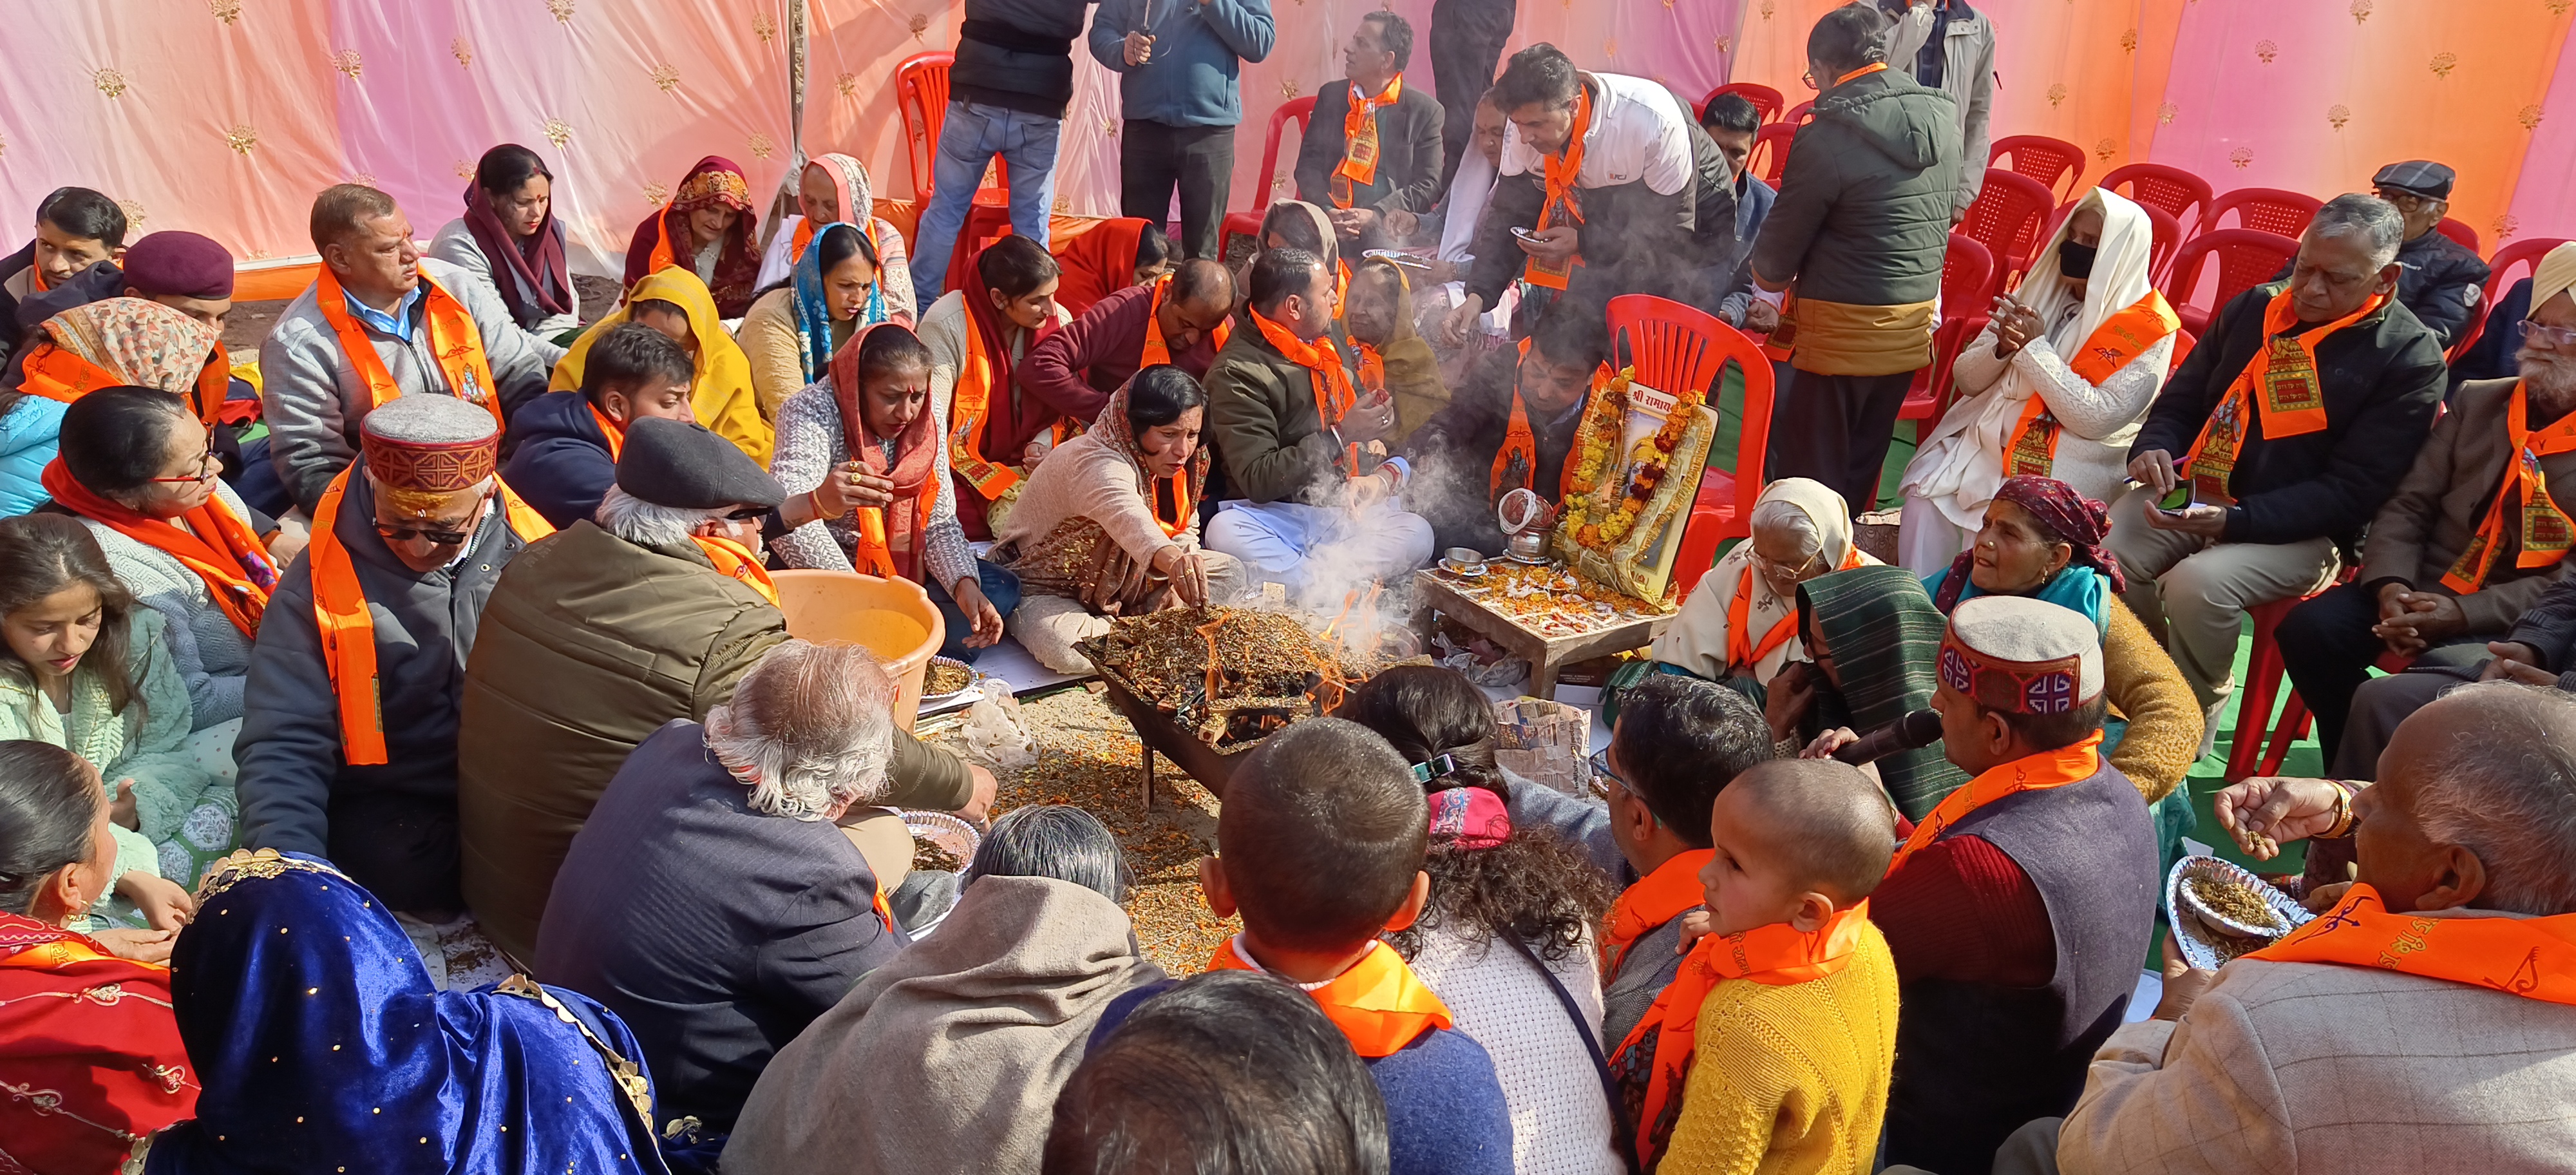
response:
<path id="1" fill-rule="evenodd" d="M 850 224 L 824 224 L 786 286 L 760 294 L 734 340 L 752 361 L 760 415 L 778 420 L 796 392 L 819 381 L 832 356 L 876 322 L 912 322 L 886 299 L 881 253 Z"/>

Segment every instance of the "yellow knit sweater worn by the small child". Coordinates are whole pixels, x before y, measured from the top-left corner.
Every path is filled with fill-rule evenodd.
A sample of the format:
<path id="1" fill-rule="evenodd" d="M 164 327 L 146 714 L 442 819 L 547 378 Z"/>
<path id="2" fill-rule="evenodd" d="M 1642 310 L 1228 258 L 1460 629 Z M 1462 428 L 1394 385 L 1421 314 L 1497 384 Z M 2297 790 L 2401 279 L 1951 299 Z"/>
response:
<path id="1" fill-rule="evenodd" d="M 1868 1175 L 1896 1064 L 1896 959 L 1875 925 L 1824 979 L 1726 979 L 1700 1002 L 1698 1051 L 1662 1175 Z"/>

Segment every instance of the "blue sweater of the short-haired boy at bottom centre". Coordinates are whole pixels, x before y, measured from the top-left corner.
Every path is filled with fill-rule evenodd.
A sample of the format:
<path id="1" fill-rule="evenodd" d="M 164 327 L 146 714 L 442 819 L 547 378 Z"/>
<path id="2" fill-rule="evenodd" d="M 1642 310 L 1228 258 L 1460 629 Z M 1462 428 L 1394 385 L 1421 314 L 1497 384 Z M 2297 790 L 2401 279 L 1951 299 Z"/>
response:
<path id="1" fill-rule="evenodd" d="M 1110 1000 L 1084 1054 L 1100 1049 L 1139 1005 L 1172 987 L 1177 979 Z M 1512 1108 L 1502 1100 L 1494 1059 L 1473 1036 L 1432 1028 L 1414 1036 L 1414 1044 L 1365 1062 L 1386 1098 L 1388 1175 L 1512 1175 Z"/>

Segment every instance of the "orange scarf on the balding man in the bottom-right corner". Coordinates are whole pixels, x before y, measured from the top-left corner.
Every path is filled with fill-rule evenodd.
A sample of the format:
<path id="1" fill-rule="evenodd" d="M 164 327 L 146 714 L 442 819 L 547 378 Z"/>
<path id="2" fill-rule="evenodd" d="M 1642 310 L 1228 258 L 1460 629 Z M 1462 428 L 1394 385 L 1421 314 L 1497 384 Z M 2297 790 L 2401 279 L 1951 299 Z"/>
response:
<path id="1" fill-rule="evenodd" d="M 2383 966 L 2455 984 L 2576 1005 L 2576 915 L 2421 917 L 2391 915 L 2378 889 L 2354 884 L 2344 902 L 2246 959 L 2272 964 Z"/>

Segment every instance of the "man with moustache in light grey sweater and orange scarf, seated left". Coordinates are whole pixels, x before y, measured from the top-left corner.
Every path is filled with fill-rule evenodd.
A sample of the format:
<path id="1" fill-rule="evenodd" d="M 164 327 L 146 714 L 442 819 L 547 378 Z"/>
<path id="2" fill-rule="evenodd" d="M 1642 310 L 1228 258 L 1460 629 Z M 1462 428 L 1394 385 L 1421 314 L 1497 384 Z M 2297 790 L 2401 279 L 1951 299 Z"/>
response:
<path id="1" fill-rule="evenodd" d="M 422 258 L 392 196 L 325 188 L 312 237 L 322 273 L 260 343 L 270 461 L 307 515 L 358 456 L 358 423 L 384 399 L 448 394 L 507 420 L 546 392 L 564 348 L 520 330 L 489 286 Z M 368 353 L 353 363 L 343 340 L 366 340 Z"/>

